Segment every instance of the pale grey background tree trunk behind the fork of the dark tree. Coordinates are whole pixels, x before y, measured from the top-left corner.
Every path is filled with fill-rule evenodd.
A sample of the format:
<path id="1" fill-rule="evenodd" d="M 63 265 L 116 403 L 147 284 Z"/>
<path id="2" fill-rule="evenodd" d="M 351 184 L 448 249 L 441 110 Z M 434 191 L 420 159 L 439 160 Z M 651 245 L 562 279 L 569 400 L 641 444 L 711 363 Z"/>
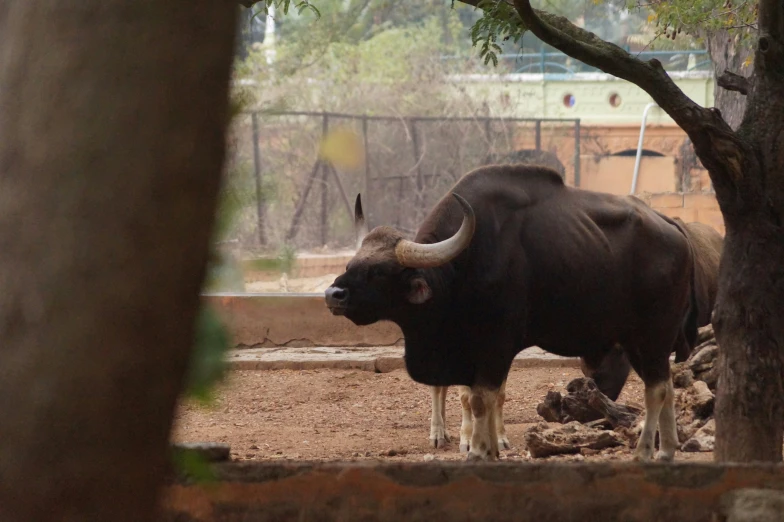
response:
<path id="1" fill-rule="evenodd" d="M 754 54 L 750 43 L 738 41 L 730 36 L 726 29 L 710 31 L 705 35 L 705 41 L 708 45 L 708 54 L 713 62 L 716 78 L 721 76 L 725 70 L 743 76 L 748 75 L 751 71 L 751 67 L 744 66 L 746 59 Z M 721 111 L 721 115 L 730 127 L 737 129 L 740 126 L 743 113 L 746 110 L 744 95 L 714 85 L 713 104 Z"/>

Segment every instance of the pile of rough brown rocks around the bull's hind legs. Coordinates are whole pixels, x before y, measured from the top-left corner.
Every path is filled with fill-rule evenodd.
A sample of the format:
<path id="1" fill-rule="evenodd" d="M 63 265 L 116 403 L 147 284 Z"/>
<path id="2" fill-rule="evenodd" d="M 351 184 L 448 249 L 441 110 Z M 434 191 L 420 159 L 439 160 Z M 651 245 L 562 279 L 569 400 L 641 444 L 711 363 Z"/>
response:
<path id="1" fill-rule="evenodd" d="M 675 410 L 681 451 L 713 451 L 716 425 L 713 420 L 714 391 L 718 380 L 718 346 L 713 328 L 699 332 L 700 343 L 687 361 L 673 364 Z M 643 422 L 641 405 L 610 400 L 592 379 L 581 377 L 566 387 L 567 394 L 548 392 L 536 411 L 550 427 L 540 423 L 525 435 L 532 457 L 557 454 L 583 455 L 622 444 L 637 445 Z"/>

